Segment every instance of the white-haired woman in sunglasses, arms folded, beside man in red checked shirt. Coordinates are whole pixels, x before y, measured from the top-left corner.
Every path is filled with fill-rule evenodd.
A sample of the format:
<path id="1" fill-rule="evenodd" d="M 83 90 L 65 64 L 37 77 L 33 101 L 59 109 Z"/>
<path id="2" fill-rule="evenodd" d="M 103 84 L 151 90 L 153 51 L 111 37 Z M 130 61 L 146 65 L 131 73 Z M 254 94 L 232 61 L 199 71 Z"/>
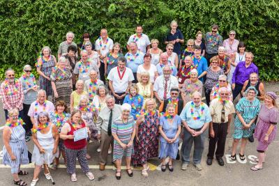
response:
<path id="1" fill-rule="evenodd" d="M 22 77 L 20 77 L 20 81 L 22 82 L 23 92 L 24 92 L 24 100 L 23 100 L 23 121 L 26 125 L 24 125 L 24 129 L 26 131 L 26 135 L 31 136 L 31 128 L 33 124 L 31 122 L 30 117 L 27 115 L 31 103 L 36 101 L 37 99 L 37 83 L 35 76 L 31 73 L 31 66 L 24 65 Z"/>

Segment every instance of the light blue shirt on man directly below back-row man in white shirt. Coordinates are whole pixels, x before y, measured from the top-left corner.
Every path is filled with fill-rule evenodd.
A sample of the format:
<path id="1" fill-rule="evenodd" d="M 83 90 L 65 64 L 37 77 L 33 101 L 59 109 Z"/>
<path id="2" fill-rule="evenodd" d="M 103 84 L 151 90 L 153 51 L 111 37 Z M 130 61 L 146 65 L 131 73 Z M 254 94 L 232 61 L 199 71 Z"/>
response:
<path id="1" fill-rule="evenodd" d="M 127 59 L 126 66 L 130 68 L 130 70 L 132 70 L 133 73 L 136 73 L 138 66 L 144 63 L 144 53 L 140 51 L 137 51 L 135 55 L 133 55 L 130 52 L 127 52 L 125 58 Z"/>

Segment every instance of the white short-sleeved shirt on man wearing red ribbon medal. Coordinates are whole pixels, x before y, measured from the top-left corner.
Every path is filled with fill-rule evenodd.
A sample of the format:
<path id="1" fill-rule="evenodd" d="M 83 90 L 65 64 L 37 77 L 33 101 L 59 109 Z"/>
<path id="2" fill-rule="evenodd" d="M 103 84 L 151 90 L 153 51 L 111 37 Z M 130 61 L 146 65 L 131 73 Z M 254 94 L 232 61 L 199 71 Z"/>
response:
<path id="1" fill-rule="evenodd" d="M 123 75 L 124 73 L 124 75 Z M 120 74 L 120 75 L 119 75 Z M 121 76 L 123 75 L 122 79 Z M 120 77 L 119 77 L 120 76 Z M 134 80 L 133 72 L 130 68 L 126 67 L 126 70 L 120 72 L 118 67 L 112 68 L 110 70 L 110 74 L 107 76 L 107 79 L 112 81 L 112 86 L 114 88 L 115 93 L 124 93 L 128 88 L 129 82 Z"/>

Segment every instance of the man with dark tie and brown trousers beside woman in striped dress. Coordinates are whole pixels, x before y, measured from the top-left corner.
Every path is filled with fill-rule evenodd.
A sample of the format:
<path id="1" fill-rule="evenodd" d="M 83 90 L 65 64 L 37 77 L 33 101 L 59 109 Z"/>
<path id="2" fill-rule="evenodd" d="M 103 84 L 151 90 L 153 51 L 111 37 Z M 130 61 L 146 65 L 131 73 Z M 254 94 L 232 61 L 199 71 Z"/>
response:
<path id="1" fill-rule="evenodd" d="M 115 100 L 112 95 L 107 95 L 105 102 L 107 107 L 100 110 L 96 123 L 98 139 L 100 140 L 100 171 L 105 170 L 108 150 L 110 146 L 114 146 L 114 139 L 112 137 L 112 122 L 121 116 L 122 113 L 121 106 L 119 104 L 115 104 Z"/>

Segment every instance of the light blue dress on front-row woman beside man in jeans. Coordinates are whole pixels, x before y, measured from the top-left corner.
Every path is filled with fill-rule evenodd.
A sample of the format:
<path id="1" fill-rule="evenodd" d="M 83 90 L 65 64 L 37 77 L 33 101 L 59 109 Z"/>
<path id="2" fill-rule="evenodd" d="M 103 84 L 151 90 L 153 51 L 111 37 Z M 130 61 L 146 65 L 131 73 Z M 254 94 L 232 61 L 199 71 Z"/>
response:
<path id="1" fill-rule="evenodd" d="M 164 116 L 160 117 L 160 126 L 163 126 L 163 132 L 165 132 L 165 135 L 169 139 L 173 139 L 175 137 L 179 125 L 181 125 L 181 118 L 178 115 L 174 116 L 172 124 L 169 124 L 167 118 L 165 118 Z M 162 136 L 160 136 L 160 158 L 169 156 L 170 158 L 175 160 L 178 149 L 179 137 L 176 139 L 176 141 L 174 141 L 174 143 L 169 144 Z"/>

